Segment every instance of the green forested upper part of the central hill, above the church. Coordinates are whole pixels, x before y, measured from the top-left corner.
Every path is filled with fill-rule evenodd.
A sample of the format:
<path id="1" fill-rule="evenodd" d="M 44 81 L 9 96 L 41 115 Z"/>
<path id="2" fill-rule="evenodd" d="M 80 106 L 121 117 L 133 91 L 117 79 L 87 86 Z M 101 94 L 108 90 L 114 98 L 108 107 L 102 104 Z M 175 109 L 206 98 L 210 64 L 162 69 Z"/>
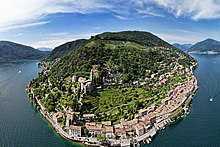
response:
<path id="1" fill-rule="evenodd" d="M 159 62 L 174 61 L 189 66 L 194 59 L 151 33 L 125 31 L 93 36 L 62 58 L 53 72 L 57 76 L 86 74 L 93 65 L 99 65 L 102 74 L 114 68 L 113 72 L 123 73 L 132 81 L 145 76 L 146 69 L 159 70 Z"/>

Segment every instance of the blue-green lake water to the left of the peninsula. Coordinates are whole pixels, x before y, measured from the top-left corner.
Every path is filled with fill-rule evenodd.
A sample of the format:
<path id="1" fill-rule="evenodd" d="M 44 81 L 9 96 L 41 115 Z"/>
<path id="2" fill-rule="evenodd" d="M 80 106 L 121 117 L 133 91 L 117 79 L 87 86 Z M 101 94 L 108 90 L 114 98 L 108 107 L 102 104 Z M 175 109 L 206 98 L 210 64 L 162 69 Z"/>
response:
<path id="1" fill-rule="evenodd" d="M 0 147 L 79 146 L 57 135 L 29 101 L 25 87 L 38 71 L 36 61 L 0 63 Z"/>

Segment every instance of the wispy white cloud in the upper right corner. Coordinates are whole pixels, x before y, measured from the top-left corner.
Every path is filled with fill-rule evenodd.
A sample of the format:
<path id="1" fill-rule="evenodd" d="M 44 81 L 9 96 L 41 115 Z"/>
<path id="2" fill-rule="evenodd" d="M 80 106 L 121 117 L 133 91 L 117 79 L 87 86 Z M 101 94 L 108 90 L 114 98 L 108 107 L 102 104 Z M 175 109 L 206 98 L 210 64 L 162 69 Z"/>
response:
<path id="1" fill-rule="evenodd" d="M 220 18 L 219 0 L 137 0 L 136 3 L 141 6 L 154 4 L 177 18 L 189 17 L 193 20 Z"/>

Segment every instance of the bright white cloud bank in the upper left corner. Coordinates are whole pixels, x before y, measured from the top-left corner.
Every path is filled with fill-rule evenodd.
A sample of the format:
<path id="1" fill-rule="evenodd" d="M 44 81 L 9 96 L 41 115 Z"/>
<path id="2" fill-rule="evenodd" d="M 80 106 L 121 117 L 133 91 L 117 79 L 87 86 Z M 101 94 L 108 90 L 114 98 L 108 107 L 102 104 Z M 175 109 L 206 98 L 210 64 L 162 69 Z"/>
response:
<path id="1" fill-rule="evenodd" d="M 0 28 L 29 27 L 49 14 L 89 13 L 108 8 L 101 0 L 0 0 Z M 17 27 L 18 26 L 18 27 Z"/>

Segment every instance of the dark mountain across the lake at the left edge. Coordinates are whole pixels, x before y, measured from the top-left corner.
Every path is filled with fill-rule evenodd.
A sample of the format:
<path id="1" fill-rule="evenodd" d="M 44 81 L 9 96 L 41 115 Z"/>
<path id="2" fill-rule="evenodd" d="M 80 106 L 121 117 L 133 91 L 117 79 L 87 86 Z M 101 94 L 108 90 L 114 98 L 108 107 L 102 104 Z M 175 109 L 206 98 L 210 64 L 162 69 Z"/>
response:
<path id="1" fill-rule="evenodd" d="M 0 62 L 41 59 L 46 54 L 46 52 L 39 51 L 30 46 L 0 41 Z"/>

